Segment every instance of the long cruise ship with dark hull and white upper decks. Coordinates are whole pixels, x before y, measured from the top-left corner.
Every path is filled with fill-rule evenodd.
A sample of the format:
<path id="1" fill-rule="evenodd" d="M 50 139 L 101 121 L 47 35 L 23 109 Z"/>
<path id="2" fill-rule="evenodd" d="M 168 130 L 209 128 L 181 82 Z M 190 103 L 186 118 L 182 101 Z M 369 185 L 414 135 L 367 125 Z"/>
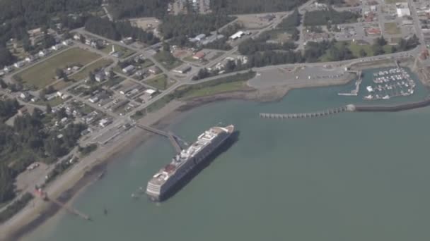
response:
<path id="1" fill-rule="evenodd" d="M 212 127 L 203 132 L 197 141 L 178 153 L 167 166 L 153 175 L 146 187 L 146 194 L 153 201 L 160 202 L 173 190 L 182 178 L 221 146 L 234 131 L 233 125 Z"/>

